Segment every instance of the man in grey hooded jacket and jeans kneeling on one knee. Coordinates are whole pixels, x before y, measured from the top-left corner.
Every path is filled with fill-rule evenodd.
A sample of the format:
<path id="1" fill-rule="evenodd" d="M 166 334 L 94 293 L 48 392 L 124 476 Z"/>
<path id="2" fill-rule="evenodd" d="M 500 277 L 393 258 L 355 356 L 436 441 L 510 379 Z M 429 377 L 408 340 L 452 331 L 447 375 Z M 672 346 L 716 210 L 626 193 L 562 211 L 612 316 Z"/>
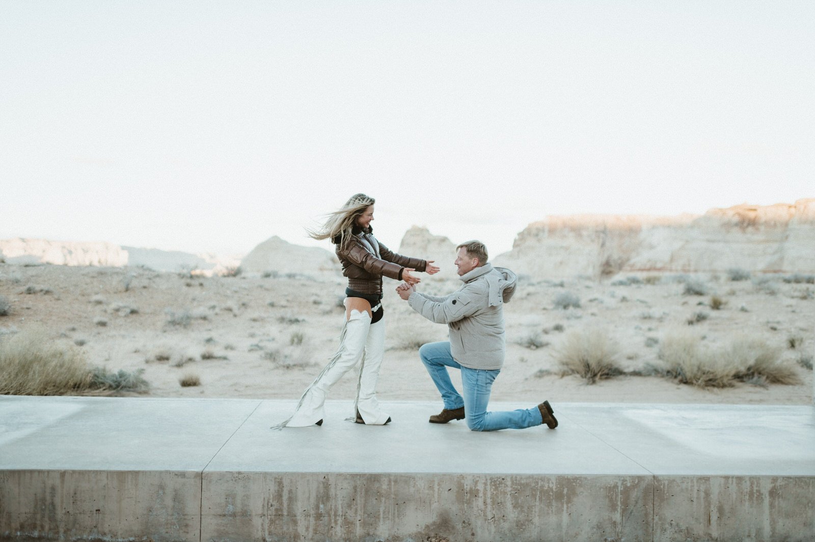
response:
<path id="1" fill-rule="evenodd" d="M 472 431 L 523 429 L 544 423 L 554 429 L 557 419 L 548 401 L 531 409 L 487 412 L 492 382 L 504 365 L 504 303 L 515 291 L 516 276 L 509 269 L 488 264 L 487 247 L 479 241 L 462 243 L 456 251 L 456 268 L 464 285 L 454 293 L 436 297 L 407 284 L 396 288 L 416 313 L 449 328 L 449 341 L 419 348 L 421 361 L 444 401 L 444 409 L 431 416 L 430 423 L 466 417 Z M 447 367 L 461 370 L 464 397 L 453 386 Z"/>

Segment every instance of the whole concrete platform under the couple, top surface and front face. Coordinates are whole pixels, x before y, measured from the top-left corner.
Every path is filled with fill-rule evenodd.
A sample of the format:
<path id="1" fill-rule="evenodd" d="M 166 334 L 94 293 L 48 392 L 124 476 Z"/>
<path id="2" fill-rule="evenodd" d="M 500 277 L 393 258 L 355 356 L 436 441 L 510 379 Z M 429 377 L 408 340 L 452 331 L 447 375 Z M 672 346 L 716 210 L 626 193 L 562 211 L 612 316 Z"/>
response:
<path id="1" fill-rule="evenodd" d="M 294 404 L 0 396 L 0 540 L 815 540 L 813 407 L 555 404 L 555 431 L 475 433 L 332 401 L 271 431 Z"/>

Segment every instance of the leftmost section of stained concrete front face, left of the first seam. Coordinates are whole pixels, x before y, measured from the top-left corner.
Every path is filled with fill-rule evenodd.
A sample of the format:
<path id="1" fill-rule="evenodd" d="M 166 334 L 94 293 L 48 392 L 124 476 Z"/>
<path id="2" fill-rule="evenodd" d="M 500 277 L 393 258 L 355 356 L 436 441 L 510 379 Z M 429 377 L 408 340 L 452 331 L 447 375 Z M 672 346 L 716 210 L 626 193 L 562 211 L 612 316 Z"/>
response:
<path id="1" fill-rule="evenodd" d="M 2 470 L 0 540 L 200 540 L 201 474 Z"/>

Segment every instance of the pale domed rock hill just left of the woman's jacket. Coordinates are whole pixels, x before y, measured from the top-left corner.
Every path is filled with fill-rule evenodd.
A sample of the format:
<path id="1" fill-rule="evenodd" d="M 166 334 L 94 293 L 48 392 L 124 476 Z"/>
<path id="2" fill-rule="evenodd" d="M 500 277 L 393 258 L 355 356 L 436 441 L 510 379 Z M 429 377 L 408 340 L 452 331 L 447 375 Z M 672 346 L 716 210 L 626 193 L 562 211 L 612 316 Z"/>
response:
<path id="1" fill-rule="evenodd" d="M 244 273 L 301 273 L 312 277 L 340 273 L 333 252 L 319 247 L 301 247 L 277 237 L 268 238 L 240 260 Z"/>

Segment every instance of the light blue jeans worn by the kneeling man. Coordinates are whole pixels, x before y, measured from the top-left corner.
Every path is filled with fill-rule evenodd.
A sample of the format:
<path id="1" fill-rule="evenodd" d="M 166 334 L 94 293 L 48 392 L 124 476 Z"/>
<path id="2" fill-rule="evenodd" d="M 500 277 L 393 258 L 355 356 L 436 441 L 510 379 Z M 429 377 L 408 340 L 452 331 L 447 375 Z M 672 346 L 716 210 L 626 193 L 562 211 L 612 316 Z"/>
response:
<path id="1" fill-rule="evenodd" d="M 525 429 L 526 427 L 540 426 L 544 421 L 540 410 L 518 409 L 512 412 L 487 412 L 487 403 L 490 401 L 492 382 L 495 381 L 500 369 L 480 370 L 468 369 L 453 359 L 450 353 L 450 341 L 441 343 L 427 343 L 419 348 L 419 357 L 430 373 L 430 378 L 442 394 L 444 408 L 447 410 L 464 407 L 467 426 L 473 431 L 497 431 L 499 429 Z M 462 398 L 450 380 L 447 367 L 461 370 L 461 385 L 464 387 Z"/>

